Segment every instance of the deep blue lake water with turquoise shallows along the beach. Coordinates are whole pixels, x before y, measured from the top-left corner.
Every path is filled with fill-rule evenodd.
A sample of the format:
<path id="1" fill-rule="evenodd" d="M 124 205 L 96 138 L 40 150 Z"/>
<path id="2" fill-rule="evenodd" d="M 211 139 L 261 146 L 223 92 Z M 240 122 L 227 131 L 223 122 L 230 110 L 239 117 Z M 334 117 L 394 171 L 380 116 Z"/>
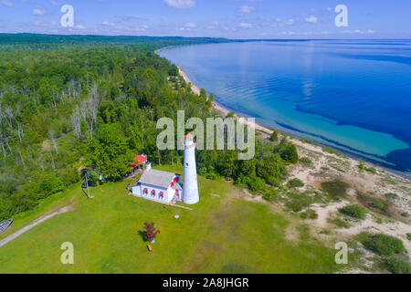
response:
<path id="1" fill-rule="evenodd" d="M 212 44 L 159 55 L 261 124 L 411 170 L 411 40 Z"/>

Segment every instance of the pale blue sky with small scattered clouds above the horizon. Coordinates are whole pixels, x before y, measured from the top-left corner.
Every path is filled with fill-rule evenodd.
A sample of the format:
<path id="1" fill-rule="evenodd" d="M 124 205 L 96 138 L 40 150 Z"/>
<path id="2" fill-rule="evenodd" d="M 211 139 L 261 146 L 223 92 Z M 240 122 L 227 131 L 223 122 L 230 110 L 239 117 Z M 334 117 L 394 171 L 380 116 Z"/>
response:
<path id="1" fill-rule="evenodd" d="M 337 27 L 337 5 L 348 26 Z M 72 5 L 74 26 L 60 25 Z M 410 38 L 409 0 L 0 0 L 0 32 L 229 38 Z"/>

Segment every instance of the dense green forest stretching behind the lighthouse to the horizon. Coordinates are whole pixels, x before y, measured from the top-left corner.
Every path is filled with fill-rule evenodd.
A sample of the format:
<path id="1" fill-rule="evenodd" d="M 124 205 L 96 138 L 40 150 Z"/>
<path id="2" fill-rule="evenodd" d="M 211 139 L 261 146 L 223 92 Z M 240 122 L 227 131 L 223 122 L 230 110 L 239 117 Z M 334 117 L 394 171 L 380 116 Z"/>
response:
<path id="1" fill-rule="evenodd" d="M 155 164 L 181 163 L 182 151 L 157 149 L 156 121 L 176 120 L 177 110 L 185 119 L 219 115 L 213 96 L 195 95 L 154 50 L 223 40 L 67 37 L 0 35 L 0 220 L 79 183 L 90 167 L 118 181 L 138 153 Z M 250 161 L 238 161 L 237 151 L 197 152 L 200 174 L 268 197 L 267 185 L 278 186 L 286 164 L 297 161 L 286 140 L 257 140 Z"/>

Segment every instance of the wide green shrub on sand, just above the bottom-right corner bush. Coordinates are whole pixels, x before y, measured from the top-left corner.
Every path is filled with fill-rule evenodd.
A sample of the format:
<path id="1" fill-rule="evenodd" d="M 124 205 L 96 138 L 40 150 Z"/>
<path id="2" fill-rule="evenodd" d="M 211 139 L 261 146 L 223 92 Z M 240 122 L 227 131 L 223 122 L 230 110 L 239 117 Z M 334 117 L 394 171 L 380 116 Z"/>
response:
<path id="1" fill-rule="evenodd" d="M 401 239 L 391 235 L 377 234 L 362 234 L 362 244 L 365 248 L 373 251 L 378 255 L 399 255 L 406 253 L 406 247 Z"/>

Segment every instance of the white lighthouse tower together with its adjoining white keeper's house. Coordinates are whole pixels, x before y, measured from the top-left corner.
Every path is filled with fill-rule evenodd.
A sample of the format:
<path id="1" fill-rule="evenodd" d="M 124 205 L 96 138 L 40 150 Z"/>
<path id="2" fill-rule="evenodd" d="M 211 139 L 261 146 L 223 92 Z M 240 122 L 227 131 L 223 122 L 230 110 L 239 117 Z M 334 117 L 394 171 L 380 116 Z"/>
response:
<path id="1" fill-rule="evenodd" d="M 195 167 L 195 141 L 188 133 L 184 141 L 184 184 L 179 173 L 152 169 L 146 163 L 140 180 L 132 186 L 132 194 L 161 203 L 183 201 L 192 204 L 199 201 Z"/>

